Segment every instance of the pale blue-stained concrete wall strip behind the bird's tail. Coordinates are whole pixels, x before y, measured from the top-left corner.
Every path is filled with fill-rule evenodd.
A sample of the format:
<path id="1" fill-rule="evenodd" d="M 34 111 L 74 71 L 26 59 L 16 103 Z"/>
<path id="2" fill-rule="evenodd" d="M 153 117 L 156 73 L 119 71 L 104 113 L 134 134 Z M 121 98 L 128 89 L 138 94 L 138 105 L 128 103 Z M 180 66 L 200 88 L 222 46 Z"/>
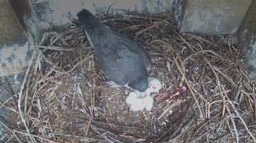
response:
<path id="1" fill-rule="evenodd" d="M 33 0 L 32 5 L 36 11 L 40 26 L 43 28 L 52 25 L 62 25 L 77 19 L 77 12 L 83 8 L 95 13 L 125 13 L 135 11 L 138 13 L 162 13 L 172 11 L 173 0 Z"/>

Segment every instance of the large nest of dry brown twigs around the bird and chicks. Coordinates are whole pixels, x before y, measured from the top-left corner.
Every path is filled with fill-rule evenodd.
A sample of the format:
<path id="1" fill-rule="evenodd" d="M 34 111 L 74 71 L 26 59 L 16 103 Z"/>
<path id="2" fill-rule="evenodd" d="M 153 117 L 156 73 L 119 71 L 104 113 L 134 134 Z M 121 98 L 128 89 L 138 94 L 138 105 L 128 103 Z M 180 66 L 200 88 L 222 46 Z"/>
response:
<path id="1" fill-rule="evenodd" d="M 129 89 L 109 85 L 74 20 L 46 31 L 35 45 L 18 100 L 6 105 L 15 109 L 19 124 L 1 120 L 3 140 L 256 142 L 255 84 L 230 36 L 180 34 L 172 17 L 101 19 L 150 55 L 148 74 L 163 83 L 154 94 L 154 109 L 129 110 Z"/>

